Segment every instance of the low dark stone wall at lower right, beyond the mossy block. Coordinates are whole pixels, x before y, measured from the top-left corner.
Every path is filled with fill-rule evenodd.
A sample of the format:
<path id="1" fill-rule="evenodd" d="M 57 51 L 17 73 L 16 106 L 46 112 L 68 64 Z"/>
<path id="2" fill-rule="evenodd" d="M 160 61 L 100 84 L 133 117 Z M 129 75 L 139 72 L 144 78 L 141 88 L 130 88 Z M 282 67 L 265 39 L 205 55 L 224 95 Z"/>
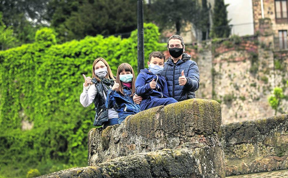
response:
<path id="1" fill-rule="evenodd" d="M 226 176 L 288 169 L 288 114 L 222 125 Z"/>

